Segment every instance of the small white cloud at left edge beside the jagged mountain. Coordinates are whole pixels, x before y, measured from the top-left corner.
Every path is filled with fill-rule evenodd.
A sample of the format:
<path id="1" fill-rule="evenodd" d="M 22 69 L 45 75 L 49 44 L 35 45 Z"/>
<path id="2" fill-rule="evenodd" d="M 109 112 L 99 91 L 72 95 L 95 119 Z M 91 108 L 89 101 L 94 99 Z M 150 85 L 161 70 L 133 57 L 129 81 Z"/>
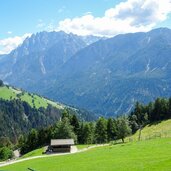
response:
<path id="1" fill-rule="evenodd" d="M 0 54 L 10 53 L 13 49 L 15 49 L 21 43 L 23 43 L 26 37 L 30 37 L 30 36 L 31 36 L 30 33 L 26 33 L 21 37 L 15 36 L 6 39 L 0 39 Z"/>

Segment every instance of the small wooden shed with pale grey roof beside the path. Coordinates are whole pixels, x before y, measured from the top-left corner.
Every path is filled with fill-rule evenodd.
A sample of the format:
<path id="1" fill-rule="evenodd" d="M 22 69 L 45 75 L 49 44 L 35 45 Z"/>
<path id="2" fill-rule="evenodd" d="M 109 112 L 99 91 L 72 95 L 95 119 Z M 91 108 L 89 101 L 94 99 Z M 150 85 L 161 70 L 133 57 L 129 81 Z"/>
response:
<path id="1" fill-rule="evenodd" d="M 73 139 L 52 139 L 50 150 L 53 153 L 71 152 L 71 146 L 74 145 Z"/>

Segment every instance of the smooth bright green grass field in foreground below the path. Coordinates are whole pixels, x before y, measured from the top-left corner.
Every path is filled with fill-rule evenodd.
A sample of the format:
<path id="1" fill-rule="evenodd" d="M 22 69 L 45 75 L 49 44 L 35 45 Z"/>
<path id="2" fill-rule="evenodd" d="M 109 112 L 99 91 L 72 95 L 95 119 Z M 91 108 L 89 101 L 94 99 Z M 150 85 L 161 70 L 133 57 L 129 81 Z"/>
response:
<path id="1" fill-rule="evenodd" d="M 131 142 L 65 156 L 33 159 L 0 168 L 6 171 L 170 171 L 171 138 Z"/>

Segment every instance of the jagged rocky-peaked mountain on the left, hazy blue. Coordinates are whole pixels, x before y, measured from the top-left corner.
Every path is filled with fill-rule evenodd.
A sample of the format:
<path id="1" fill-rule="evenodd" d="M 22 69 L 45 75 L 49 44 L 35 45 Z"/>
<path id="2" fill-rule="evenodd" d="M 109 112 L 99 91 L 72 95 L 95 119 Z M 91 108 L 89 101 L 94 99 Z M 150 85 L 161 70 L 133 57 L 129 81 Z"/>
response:
<path id="1" fill-rule="evenodd" d="M 9 55 L 0 58 L 0 78 L 23 88 L 32 88 L 40 79 L 54 81 L 54 74 L 64 63 L 97 40 L 98 37 L 62 31 L 33 34 Z"/>

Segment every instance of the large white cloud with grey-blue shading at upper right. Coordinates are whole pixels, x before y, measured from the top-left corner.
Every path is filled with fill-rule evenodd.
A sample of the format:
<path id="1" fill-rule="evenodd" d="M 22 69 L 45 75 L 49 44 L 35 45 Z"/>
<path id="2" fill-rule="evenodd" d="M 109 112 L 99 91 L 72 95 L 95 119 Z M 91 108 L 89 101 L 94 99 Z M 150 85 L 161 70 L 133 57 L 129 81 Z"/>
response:
<path id="1" fill-rule="evenodd" d="M 88 13 L 59 22 L 57 30 L 78 35 L 114 36 L 119 33 L 149 31 L 167 19 L 171 0 L 127 0 L 105 11 L 103 17 Z"/>

